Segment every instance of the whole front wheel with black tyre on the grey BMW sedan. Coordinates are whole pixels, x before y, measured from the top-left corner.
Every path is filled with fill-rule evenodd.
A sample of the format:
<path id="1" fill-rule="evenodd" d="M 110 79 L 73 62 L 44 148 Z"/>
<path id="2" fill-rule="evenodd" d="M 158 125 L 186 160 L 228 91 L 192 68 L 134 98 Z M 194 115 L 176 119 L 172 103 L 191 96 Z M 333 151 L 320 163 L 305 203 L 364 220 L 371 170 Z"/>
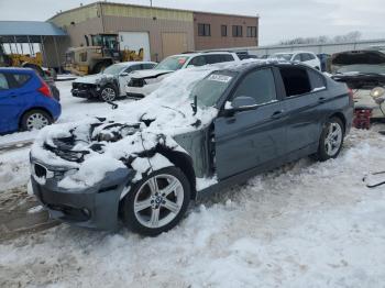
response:
<path id="1" fill-rule="evenodd" d="M 124 224 L 142 235 L 156 236 L 178 224 L 190 201 L 190 185 L 177 167 L 152 173 L 127 195 L 122 203 Z"/>

